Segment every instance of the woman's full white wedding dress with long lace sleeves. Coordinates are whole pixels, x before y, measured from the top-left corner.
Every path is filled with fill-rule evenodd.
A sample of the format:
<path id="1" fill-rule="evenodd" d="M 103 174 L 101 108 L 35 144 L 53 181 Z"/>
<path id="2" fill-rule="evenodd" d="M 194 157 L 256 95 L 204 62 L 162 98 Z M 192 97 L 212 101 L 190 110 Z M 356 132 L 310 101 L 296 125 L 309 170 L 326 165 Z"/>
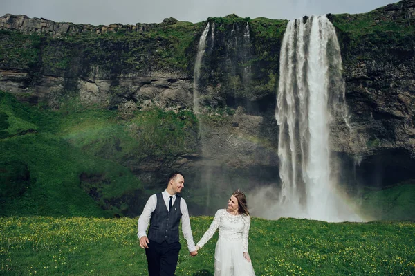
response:
<path id="1" fill-rule="evenodd" d="M 248 252 L 250 217 L 229 214 L 220 209 L 197 246 L 202 248 L 219 227 L 219 239 L 214 252 L 214 276 L 255 276 L 252 262 L 243 257 Z"/>

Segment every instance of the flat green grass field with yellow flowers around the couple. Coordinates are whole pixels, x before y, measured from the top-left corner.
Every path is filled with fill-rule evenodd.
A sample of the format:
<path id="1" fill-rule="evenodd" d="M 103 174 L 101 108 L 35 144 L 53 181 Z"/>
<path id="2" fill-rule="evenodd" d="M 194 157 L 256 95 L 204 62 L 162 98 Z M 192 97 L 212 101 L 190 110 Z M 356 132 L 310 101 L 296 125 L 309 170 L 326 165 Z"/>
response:
<path id="1" fill-rule="evenodd" d="M 212 217 L 192 217 L 195 241 Z M 1 217 L 1 275 L 147 275 L 135 219 Z M 183 237 L 176 275 L 213 275 L 214 235 L 199 255 Z M 414 275 L 415 223 L 252 219 L 257 275 Z"/>

